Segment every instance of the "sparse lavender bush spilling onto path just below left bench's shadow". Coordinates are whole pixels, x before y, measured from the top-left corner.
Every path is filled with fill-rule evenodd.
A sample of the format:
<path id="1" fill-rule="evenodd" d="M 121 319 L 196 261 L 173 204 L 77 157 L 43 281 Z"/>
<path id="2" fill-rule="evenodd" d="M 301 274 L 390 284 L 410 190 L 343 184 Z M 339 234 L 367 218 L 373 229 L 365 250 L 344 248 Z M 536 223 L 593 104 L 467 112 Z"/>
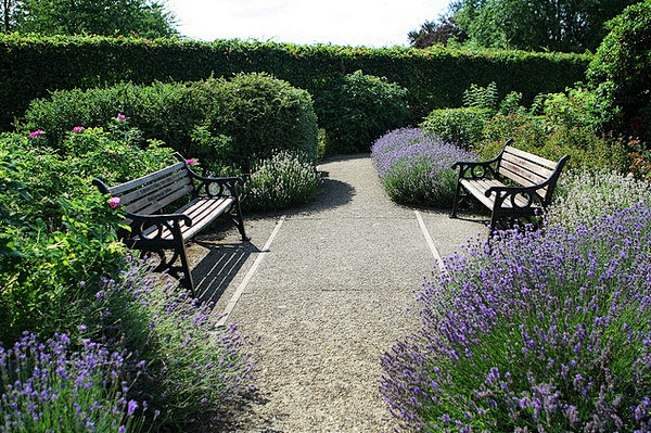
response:
<path id="1" fill-rule="evenodd" d="M 217 329 L 212 306 L 177 280 L 129 259 L 119 279 L 100 289 L 88 304 L 86 332 L 131 354 L 131 368 L 144 366 L 131 395 L 161 411 L 158 426 L 186 431 L 180 426 L 216 418 L 250 390 L 253 365 L 237 326 Z"/>

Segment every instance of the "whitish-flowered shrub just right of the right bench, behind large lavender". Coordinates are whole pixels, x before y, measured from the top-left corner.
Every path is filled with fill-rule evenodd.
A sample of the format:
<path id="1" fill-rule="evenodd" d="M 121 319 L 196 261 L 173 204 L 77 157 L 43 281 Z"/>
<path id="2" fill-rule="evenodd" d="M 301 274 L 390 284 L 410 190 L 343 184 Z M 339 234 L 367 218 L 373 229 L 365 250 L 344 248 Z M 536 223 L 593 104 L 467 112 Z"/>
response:
<path id="1" fill-rule="evenodd" d="M 644 200 L 651 203 L 651 186 L 644 181 L 608 169 L 571 171 L 559 178 L 546 218 L 549 225 L 573 228 Z"/>

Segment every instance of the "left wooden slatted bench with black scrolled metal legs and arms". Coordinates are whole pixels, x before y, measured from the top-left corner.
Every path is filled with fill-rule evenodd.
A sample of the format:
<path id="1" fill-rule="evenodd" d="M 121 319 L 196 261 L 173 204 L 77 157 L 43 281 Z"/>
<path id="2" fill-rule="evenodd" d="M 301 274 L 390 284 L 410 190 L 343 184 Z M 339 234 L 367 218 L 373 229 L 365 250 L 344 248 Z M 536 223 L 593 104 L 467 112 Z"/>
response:
<path id="1" fill-rule="evenodd" d="M 240 209 L 237 186 L 239 177 L 209 178 L 190 169 L 183 157 L 180 162 L 158 171 L 130 180 L 113 188 L 100 179 L 93 184 L 104 194 L 119 198 L 130 231 L 120 230 L 119 237 L 129 247 L 154 252 L 161 257 L 156 271 L 167 270 L 181 280 L 194 296 L 194 282 L 188 265 L 186 242 L 218 217 L 228 217 L 235 225 L 242 241 L 247 241 Z M 181 207 L 175 209 L 176 203 Z M 171 208 L 173 212 L 161 213 Z M 174 250 L 167 258 L 165 250 Z M 180 258 L 181 265 L 175 265 Z M 182 278 L 179 276 L 182 272 Z"/>

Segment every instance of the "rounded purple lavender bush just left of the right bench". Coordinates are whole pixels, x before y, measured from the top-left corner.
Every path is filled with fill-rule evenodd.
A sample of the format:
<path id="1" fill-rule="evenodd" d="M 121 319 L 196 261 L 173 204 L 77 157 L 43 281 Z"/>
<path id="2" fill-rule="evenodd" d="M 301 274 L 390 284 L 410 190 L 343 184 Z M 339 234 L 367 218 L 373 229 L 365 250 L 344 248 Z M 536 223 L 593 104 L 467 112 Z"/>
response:
<path id="1" fill-rule="evenodd" d="M 388 196 L 404 204 L 446 207 L 452 203 L 457 161 L 473 161 L 472 153 L 420 128 L 393 130 L 375 141 L 371 157 Z"/>

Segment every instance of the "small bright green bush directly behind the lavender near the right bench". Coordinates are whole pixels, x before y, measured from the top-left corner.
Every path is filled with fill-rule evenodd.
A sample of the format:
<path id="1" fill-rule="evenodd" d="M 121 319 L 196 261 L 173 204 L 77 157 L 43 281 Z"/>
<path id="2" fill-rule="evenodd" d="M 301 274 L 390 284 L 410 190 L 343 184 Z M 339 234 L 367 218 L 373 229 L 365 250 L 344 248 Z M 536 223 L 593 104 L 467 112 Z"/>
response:
<path id="1" fill-rule="evenodd" d="M 482 140 L 484 125 L 494 113 L 493 110 L 476 107 L 434 110 L 421 128 L 446 142 L 471 149 Z"/>

